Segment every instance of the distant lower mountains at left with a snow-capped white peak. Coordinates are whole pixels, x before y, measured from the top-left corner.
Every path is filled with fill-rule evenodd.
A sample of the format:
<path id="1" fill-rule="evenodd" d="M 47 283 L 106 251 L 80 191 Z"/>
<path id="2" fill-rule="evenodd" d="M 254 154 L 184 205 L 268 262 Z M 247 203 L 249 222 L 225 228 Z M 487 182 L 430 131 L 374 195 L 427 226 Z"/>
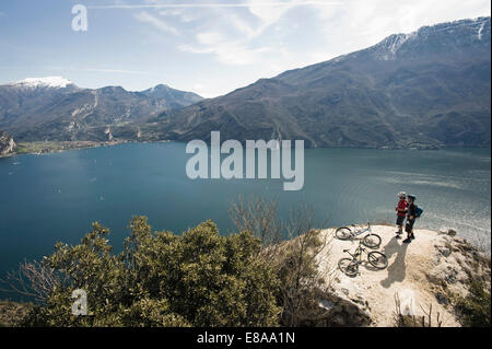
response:
<path id="1" fill-rule="evenodd" d="M 25 79 L 0 86 L 0 127 L 19 140 L 106 140 L 113 127 L 136 139 L 138 128 L 127 125 L 200 100 L 164 85 L 129 92 L 80 89 L 56 77 Z"/>

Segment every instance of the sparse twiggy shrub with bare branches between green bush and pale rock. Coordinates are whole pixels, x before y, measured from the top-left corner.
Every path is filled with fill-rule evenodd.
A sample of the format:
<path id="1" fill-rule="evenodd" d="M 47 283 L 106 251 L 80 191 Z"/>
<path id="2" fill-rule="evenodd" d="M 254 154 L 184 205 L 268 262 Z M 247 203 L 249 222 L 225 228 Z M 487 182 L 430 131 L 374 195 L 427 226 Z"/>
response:
<path id="1" fill-rule="evenodd" d="M 314 229 L 313 207 L 301 203 L 291 208 L 288 220 L 281 220 L 277 200 L 239 196 L 230 214 L 239 231 L 250 231 L 261 241 L 261 256 L 280 278 L 281 325 L 324 326 L 326 311 L 319 303 L 329 299 L 333 268 L 320 265 L 328 257 L 330 242 Z"/>

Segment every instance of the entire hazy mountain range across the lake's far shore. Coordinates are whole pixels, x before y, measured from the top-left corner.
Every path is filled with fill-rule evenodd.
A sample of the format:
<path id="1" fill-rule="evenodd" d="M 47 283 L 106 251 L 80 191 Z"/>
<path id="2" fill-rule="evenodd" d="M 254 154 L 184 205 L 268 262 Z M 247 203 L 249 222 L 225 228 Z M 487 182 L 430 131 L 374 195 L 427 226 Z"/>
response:
<path id="1" fill-rule="evenodd" d="M 211 100 L 163 85 L 24 85 L 0 86 L 0 129 L 16 140 L 189 141 L 219 130 L 222 139 L 307 147 L 489 147 L 491 20 L 391 35 Z"/>

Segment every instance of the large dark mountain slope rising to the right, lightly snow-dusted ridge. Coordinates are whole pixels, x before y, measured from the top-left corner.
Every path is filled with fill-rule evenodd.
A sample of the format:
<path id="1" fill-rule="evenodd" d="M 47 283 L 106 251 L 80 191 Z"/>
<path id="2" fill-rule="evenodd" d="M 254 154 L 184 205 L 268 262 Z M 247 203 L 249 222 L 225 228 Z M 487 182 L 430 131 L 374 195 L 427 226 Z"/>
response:
<path id="1" fill-rule="evenodd" d="M 309 147 L 490 146 L 490 18 L 391 35 L 347 56 L 162 113 L 147 139 L 305 139 Z"/>

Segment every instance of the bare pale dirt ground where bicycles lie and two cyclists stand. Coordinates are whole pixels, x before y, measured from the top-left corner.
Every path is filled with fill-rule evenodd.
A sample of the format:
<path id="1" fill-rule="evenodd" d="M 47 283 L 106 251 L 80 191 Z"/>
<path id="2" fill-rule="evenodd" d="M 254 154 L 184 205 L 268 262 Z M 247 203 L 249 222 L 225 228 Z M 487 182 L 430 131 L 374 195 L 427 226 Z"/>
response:
<path id="1" fill-rule="evenodd" d="M 395 237 L 395 231 L 394 226 L 373 226 L 373 232 L 383 240 L 377 251 L 388 257 L 388 267 L 385 270 L 376 270 L 364 264 L 360 266 L 360 275 L 351 278 L 338 269 L 338 260 L 350 257 L 343 249 L 353 252 L 359 245 L 359 240 L 340 241 L 335 239 L 335 229 L 325 230 L 324 234 L 331 243 L 329 251 L 324 254 L 324 266 L 336 269 L 332 276 L 333 288 L 349 299 L 365 300 L 374 321 L 372 326 L 395 325 L 396 294 L 400 299 L 403 312 L 424 315 L 422 307 L 427 311 L 432 304 L 433 321 L 438 312 L 443 326 L 459 326 L 455 316 L 438 304 L 432 291 L 433 286 L 426 277 L 429 270 L 436 267 L 436 260 L 438 263 L 436 256 L 440 252 L 436 246 L 442 244 L 445 237 L 437 232 L 415 230 L 417 239 L 410 244 L 403 244 L 403 239 Z M 365 256 L 364 258 L 366 259 Z"/>

